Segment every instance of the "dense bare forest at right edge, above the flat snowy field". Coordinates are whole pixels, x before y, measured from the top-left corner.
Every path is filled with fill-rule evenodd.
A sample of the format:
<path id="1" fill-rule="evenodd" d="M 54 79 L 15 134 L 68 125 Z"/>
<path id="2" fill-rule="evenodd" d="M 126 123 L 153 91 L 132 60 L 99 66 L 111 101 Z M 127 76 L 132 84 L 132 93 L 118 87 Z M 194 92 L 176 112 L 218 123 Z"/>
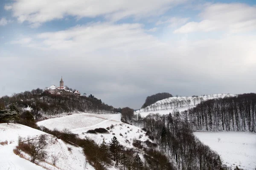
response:
<path id="1" fill-rule="evenodd" d="M 256 94 L 210 99 L 182 115 L 193 130 L 256 132 Z"/>

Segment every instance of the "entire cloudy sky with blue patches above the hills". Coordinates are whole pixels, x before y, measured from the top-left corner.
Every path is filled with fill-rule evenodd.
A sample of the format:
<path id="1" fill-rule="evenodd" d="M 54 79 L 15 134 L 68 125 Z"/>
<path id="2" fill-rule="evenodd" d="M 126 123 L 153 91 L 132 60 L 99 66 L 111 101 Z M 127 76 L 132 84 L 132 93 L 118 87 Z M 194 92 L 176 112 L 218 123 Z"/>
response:
<path id="1" fill-rule="evenodd" d="M 59 85 L 108 105 L 256 92 L 254 0 L 1 0 L 0 96 Z"/>

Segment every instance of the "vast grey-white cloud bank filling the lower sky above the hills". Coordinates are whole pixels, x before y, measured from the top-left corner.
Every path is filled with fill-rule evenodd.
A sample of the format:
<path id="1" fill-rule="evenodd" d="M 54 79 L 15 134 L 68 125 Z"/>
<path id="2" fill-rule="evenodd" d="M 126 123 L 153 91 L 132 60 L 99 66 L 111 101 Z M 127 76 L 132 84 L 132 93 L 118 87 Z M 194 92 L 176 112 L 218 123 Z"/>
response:
<path id="1" fill-rule="evenodd" d="M 63 75 L 65 85 L 109 105 L 139 108 L 146 96 L 163 91 L 184 96 L 237 94 L 253 91 L 256 85 L 251 79 L 256 71 L 253 35 L 170 38 L 163 43 L 141 24 L 90 23 L 27 35 L 13 43 L 23 48 L 12 51 L 16 58 L 1 59 L 6 74 L 0 79 L 8 88 L 0 95 L 56 85 Z M 22 81 L 17 87 L 17 79 L 9 77 Z"/>

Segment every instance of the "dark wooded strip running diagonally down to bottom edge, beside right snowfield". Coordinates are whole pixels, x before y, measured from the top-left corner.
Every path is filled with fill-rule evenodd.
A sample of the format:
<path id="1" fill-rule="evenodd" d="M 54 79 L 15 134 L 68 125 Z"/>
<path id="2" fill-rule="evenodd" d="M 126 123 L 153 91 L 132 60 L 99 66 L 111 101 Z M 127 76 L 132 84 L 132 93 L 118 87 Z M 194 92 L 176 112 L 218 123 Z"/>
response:
<path id="1" fill-rule="evenodd" d="M 220 156 L 200 142 L 179 112 L 174 116 L 149 114 L 139 123 L 156 136 L 157 143 L 181 170 L 224 170 Z"/>

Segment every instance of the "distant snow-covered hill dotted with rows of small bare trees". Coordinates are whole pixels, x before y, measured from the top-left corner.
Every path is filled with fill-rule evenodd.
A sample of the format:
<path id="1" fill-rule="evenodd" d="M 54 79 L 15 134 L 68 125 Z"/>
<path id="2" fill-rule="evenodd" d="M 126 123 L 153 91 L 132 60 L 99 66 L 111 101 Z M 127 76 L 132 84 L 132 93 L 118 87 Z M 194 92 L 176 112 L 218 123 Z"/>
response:
<path id="1" fill-rule="evenodd" d="M 195 107 L 202 101 L 216 98 L 233 97 L 232 94 L 212 94 L 205 96 L 190 96 L 190 97 L 169 97 L 167 99 L 159 100 L 146 108 L 135 111 L 140 113 L 142 117 L 149 113 L 159 113 L 160 115 L 172 113 L 174 110 L 186 111 L 189 108 Z"/>

